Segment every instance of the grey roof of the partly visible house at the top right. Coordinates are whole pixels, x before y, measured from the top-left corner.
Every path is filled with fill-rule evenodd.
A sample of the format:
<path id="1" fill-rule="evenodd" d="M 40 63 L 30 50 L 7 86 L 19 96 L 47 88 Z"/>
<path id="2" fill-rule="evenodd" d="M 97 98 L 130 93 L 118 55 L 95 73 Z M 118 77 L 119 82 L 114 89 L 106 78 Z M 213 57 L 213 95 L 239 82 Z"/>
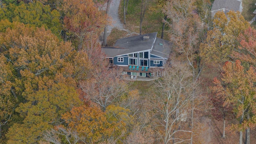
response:
<path id="1" fill-rule="evenodd" d="M 240 0 L 214 0 L 212 4 L 212 11 L 220 10 L 226 8 L 228 10 L 239 11 L 240 10 Z"/>

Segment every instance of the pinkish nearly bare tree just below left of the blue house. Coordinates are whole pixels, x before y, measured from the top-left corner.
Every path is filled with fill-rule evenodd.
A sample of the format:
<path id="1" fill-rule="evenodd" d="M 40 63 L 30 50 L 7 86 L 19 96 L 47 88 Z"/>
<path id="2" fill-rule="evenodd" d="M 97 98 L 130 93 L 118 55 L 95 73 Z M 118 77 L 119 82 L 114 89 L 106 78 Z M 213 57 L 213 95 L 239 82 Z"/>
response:
<path id="1" fill-rule="evenodd" d="M 81 82 L 80 87 L 85 92 L 85 98 L 99 104 L 105 112 L 106 107 L 126 91 L 126 83 L 121 78 L 121 70 L 116 68 L 96 68 L 92 78 Z"/>

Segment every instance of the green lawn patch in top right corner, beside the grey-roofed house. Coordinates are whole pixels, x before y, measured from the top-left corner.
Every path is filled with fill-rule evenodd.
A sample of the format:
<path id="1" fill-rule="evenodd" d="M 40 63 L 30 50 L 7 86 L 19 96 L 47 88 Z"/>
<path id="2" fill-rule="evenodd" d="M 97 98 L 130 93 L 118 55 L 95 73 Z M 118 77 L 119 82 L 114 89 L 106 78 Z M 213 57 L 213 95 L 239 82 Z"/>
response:
<path id="1" fill-rule="evenodd" d="M 252 12 L 256 9 L 255 6 L 256 0 L 243 0 L 243 11 L 242 15 L 244 16 L 244 19 L 247 21 L 252 20 L 252 18 L 255 16 Z"/>

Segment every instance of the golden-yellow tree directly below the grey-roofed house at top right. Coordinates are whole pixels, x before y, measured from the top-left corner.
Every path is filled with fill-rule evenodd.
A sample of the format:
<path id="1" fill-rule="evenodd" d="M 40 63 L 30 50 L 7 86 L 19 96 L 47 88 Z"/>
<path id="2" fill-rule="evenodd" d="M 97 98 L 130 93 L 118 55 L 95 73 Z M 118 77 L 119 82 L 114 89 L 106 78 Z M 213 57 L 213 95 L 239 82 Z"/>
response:
<path id="1" fill-rule="evenodd" d="M 214 15 L 213 30 L 207 32 L 206 42 L 200 46 L 200 56 L 212 65 L 220 67 L 228 61 L 234 60 L 232 52 L 238 48 L 238 36 L 244 32 L 249 23 L 244 20 L 240 12 L 217 12 Z"/>

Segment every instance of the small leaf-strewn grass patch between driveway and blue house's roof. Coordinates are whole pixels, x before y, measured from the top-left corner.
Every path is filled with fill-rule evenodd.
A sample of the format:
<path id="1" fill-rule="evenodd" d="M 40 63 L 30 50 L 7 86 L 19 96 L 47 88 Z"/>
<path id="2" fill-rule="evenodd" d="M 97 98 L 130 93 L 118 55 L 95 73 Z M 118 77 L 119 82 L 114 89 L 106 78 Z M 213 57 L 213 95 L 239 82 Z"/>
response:
<path id="1" fill-rule="evenodd" d="M 107 45 L 113 46 L 116 40 L 118 40 L 119 38 L 125 37 L 126 34 L 128 34 L 126 31 L 113 28 L 110 35 L 108 36 Z"/>

